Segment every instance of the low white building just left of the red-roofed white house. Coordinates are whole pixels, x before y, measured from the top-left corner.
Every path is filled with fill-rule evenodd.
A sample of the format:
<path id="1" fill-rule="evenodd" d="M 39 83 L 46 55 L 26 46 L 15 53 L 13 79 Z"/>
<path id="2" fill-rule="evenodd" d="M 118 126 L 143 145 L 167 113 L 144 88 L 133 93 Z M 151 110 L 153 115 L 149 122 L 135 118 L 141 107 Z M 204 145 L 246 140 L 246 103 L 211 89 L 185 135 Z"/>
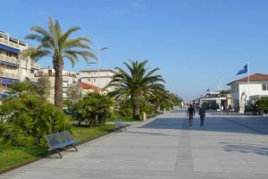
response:
<path id="1" fill-rule="evenodd" d="M 230 90 L 221 90 L 214 92 L 207 92 L 204 96 L 199 98 L 200 107 L 207 109 L 226 109 L 231 105 Z"/>

